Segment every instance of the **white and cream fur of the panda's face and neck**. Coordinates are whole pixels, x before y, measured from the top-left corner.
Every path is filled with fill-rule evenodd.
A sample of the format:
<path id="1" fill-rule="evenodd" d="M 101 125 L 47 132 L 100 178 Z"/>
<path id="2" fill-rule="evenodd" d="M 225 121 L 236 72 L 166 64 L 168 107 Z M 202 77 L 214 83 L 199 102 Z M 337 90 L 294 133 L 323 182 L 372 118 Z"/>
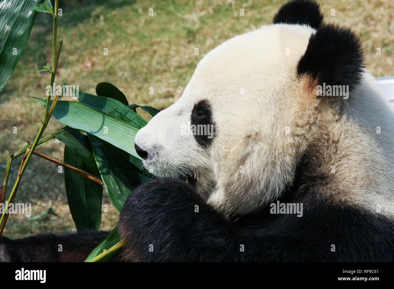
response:
<path id="1" fill-rule="evenodd" d="M 324 127 L 339 151 L 327 153 L 327 167 L 317 169 L 335 166 L 335 189 L 344 192 L 338 199 L 394 214 L 393 113 L 368 72 L 344 100 L 348 118 L 339 122 L 329 105 L 305 96 L 296 66 L 312 32 L 263 26 L 209 52 L 181 98 L 138 132 L 136 144 L 149 153 L 144 166 L 159 177 L 195 175 L 199 193 L 227 215 L 251 212 L 292 182 L 297 160 Z M 210 101 L 216 123 L 208 149 L 180 134 L 202 99 Z"/>

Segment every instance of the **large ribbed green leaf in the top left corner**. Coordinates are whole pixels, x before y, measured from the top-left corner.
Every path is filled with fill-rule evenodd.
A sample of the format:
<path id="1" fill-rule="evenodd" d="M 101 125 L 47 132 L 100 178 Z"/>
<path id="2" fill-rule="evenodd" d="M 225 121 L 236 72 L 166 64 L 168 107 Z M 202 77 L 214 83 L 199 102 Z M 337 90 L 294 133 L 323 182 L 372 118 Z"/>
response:
<path id="1" fill-rule="evenodd" d="M 43 0 L 7 0 L 0 4 L 0 92 L 11 77 L 32 31 Z"/>

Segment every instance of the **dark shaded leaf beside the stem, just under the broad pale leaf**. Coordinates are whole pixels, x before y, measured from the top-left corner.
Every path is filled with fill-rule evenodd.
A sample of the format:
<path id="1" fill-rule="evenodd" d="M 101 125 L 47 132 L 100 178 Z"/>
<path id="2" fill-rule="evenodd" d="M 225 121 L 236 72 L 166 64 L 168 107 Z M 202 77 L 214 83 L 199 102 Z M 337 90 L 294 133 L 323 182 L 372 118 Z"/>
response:
<path id="1" fill-rule="evenodd" d="M 93 156 L 92 146 L 87 135 L 80 133 L 78 130 L 71 129 L 69 131 L 63 131 L 58 134 L 56 138 L 69 146 L 74 153 L 81 157 L 89 168 L 92 169 L 95 177 L 100 176 L 95 157 Z"/>

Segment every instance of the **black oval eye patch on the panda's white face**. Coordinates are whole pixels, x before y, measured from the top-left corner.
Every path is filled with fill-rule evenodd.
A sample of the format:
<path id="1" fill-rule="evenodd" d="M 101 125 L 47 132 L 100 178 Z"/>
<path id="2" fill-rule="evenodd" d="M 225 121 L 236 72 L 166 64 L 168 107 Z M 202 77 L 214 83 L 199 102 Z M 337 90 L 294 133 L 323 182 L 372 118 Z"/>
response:
<path id="1" fill-rule="evenodd" d="M 214 138 L 212 107 L 208 100 L 201 100 L 194 105 L 191 112 L 191 131 L 197 143 L 203 147 L 208 146 Z"/>

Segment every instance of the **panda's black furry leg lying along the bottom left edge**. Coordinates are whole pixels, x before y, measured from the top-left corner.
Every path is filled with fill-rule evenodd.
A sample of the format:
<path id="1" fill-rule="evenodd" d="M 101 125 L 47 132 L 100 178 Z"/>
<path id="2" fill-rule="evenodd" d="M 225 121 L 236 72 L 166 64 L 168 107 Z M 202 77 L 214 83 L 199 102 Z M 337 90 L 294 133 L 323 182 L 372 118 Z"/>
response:
<path id="1" fill-rule="evenodd" d="M 45 233 L 23 239 L 0 239 L 0 261 L 9 262 L 83 262 L 110 232 L 90 231 L 55 235 Z M 59 245 L 62 251 L 59 252 Z M 110 261 L 117 261 L 120 252 Z"/>

